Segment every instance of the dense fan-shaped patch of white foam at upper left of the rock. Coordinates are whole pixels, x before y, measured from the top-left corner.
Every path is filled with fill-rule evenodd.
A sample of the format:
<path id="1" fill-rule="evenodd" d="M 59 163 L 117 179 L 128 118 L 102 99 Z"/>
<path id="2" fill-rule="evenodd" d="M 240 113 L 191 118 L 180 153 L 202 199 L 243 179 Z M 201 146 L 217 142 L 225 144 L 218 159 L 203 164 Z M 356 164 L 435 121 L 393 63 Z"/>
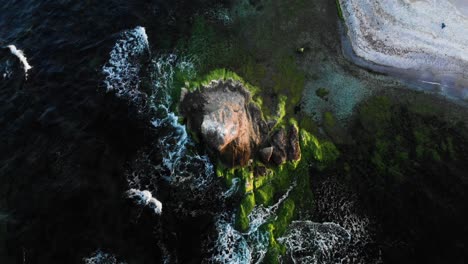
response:
<path id="1" fill-rule="evenodd" d="M 141 61 L 146 54 L 149 55 L 149 43 L 144 27 L 122 32 L 110 52 L 109 61 L 102 67 L 107 91 L 130 99 L 141 96 Z"/>

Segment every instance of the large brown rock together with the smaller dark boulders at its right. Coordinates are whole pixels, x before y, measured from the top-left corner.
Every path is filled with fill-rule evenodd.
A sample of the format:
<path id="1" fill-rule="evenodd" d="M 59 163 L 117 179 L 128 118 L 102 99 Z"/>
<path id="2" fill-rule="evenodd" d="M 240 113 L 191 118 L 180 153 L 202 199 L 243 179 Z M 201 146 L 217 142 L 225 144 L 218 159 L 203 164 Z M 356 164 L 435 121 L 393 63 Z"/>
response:
<path id="1" fill-rule="evenodd" d="M 275 165 L 300 158 L 297 128 L 270 131 L 238 81 L 212 81 L 193 92 L 184 89 L 179 109 L 187 127 L 228 166 L 245 166 L 257 157 Z"/>

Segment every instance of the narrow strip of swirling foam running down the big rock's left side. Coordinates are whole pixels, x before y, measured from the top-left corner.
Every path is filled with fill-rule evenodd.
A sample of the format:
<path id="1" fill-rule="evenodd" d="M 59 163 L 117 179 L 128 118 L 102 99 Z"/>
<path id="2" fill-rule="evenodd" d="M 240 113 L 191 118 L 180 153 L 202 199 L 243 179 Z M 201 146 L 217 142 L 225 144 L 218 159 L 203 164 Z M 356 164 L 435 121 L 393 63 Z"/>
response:
<path id="1" fill-rule="evenodd" d="M 173 184 L 190 182 L 192 189 L 204 189 L 214 180 L 213 165 L 206 155 L 188 153 L 194 143 L 185 125 L 179 122 L 179 116 L 170 110 L 173 100 L 177 100 L 171 97 L 171 91 L 176 88 L 176 72 L 188 79 L 193 78 L 196 75 L 195 65 L 192 60 L 179 58 L 175 54 L 161 55 L 152 61 L 150 107 L 157 115 L 151 123 L 165 131 L 159 137 L 157 147 L 163 151 L 163 166 L 169 170 L 166 179 Z M 203 169 L 202 173 L 193 173 L 190 165 Z"/>

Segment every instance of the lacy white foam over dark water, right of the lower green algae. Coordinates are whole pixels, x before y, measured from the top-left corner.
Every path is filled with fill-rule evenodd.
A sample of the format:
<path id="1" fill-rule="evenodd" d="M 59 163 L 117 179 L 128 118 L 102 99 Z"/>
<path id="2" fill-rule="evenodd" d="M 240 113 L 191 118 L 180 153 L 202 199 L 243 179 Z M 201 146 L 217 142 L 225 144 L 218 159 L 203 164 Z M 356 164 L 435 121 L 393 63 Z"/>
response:
<path id="1" fill-rule="evenodd" d="M 318 235 L 313 236 L 322 242 L 303 244 L 308 248 L 308 256 L 313 257 L 315 261 L 305 263 L 381 263 L 378 248 L 373 243 L 371 230 L 374 222 L 359 213 L 356 194 L 336 179 L 328 178 L 316 186 L 315 196 L 317 217 L 326 223 L 298 222 L 297 225 L 292 225 L 292 229 L 302 231 L 291 230 L 288 243 L 292 247 L 289 253 L 296 259 L 299 255 L 305 256 L 294 244 L 298 242 L 292 241 L 299 237 L 294 232 L 303 233 L 303 239 L 318 232 Z M 349 237 L 340 229 L 349 234 Z M 331 236 L 333 234 L 334 236 Z"/>

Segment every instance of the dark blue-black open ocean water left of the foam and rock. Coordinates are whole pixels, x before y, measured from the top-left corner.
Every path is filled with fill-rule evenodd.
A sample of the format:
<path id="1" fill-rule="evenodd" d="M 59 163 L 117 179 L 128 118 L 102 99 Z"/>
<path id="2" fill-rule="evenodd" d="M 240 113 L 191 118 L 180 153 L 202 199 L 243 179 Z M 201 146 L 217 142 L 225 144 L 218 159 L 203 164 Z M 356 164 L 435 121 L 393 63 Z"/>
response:
<path id="1" fill-rule="evenodd" d="M 170 50 L 191 15 L 215 2 L 0 3 L 0 46 L 15 45 L 32 65 L 26 80 L 0 51 L 1 263 L 82 263 L 97 249 L 128 263 L 162 261 L 161 223 L 125 197 L 128 163 L 157 134 L 138 107 L 106 94 L 102 66 L 123 31 L 144 25 L 152 49 Z M 194 230 L 171 247 L 199 262 L 207 220 L 164 222 L 168 236 Z"/>

